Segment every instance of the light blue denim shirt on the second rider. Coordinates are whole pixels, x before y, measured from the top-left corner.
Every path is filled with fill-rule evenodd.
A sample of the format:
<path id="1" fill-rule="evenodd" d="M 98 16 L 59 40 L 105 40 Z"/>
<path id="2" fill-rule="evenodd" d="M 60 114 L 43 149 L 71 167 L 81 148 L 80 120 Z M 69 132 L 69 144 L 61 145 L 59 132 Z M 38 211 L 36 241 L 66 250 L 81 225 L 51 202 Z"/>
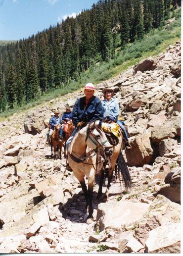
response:
<path id="1" fill-rule="evenodd" d="M 103 117 L 106 116 L 113 116 L 117 119 L 120 110 L 119 110 L 119 103 L 116 97 L 112 97 L 111 100 L 108 102 L 107 100 L 102 101 L 103 106 Z"/>

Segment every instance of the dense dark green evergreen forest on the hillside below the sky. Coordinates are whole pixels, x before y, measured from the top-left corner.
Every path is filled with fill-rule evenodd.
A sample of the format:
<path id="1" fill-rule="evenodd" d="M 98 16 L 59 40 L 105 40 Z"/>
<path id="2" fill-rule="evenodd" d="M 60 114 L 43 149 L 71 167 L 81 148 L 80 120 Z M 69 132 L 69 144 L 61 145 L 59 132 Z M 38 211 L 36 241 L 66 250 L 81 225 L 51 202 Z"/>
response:
<path id="1" fill-rule="evenodd" d="M 159 28 L 181 0 L 99 0 L 28 39 L 0 45 L 0 112 L 69 87 L 90 67 Z M 92 82 L 92 81 L 89 81 Z"/>

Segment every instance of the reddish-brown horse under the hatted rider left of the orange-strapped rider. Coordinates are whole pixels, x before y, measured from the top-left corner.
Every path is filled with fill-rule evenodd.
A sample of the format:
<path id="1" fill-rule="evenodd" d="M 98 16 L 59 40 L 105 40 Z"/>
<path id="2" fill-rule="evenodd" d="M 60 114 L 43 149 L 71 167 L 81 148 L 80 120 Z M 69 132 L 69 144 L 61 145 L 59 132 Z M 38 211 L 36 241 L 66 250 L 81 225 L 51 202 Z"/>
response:
<path id="1" fill-rule="evenodd" d="M 58 124 L 55 126 L 53 133 L 51 134 L 51 156 L 52 156 L 52 147 L 53 147 L 53 157 L 58 157 L 58 152 L 59 152 L 59 157 L 60 159 L 61 157 L 61 148 L 63 146 L 63 143 L 61 141 L 59 141 L 59 135 L 60 135 L 60 127 L 61 125 Z"/>

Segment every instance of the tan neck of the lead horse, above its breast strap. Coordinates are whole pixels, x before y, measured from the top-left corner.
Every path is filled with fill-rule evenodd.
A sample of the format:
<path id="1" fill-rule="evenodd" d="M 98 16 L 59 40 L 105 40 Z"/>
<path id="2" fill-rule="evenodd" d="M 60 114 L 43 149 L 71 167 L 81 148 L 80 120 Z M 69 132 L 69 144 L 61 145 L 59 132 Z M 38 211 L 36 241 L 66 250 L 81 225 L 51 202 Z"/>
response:
<path id="1" fill-rule="evenodd" d="M 83 155 L 86 152 L 86 136 L 80 136 L 79 132 L 75 135 L 72 146 L 72 151 L 76 154 Z"/>

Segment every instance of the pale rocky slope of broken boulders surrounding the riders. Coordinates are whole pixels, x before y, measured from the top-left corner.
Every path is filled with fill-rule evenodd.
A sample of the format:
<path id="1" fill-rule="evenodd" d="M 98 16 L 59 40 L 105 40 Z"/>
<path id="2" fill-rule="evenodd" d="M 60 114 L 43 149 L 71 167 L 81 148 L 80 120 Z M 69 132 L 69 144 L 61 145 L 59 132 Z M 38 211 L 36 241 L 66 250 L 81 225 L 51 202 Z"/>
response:
<path id="1" fill-rule="evenodd" d="M 0 123 L 0 253 L 180 253 L 181 45 L 104 83 L 128 125 L 133 187 L 112 182 L 109 201 L 87 212 L 65 159 L 51 159 L 46 123 L 78 91 Z M 98 189 L 98 177 L 94 197 Z M 104 188 L 105 189 L 105 188 Z"/>

